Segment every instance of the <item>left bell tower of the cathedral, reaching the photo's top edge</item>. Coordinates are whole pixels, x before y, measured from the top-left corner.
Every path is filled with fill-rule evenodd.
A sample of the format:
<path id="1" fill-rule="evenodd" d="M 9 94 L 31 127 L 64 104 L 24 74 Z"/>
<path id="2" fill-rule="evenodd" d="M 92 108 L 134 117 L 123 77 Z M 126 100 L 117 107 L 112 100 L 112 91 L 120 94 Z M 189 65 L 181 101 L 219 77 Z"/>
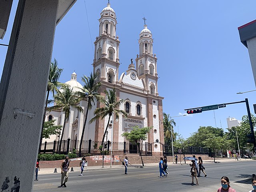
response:
<path id="1" fill-rule="evenodd" d="M 94 73 L 98 74 L 99 80 L 115 84 L 120 65 L 120 41 L 116 36 L 116 13 L 109 2 L 100 14 L 99 23 L 99 36 L 94 42 Z"/>

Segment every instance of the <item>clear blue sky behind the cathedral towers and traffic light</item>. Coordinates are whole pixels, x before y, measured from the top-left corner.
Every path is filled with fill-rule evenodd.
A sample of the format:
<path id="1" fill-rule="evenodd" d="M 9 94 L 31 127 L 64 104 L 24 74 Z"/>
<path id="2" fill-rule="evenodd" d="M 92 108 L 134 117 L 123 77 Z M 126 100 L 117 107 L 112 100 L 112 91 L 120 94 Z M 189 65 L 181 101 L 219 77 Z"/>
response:
<path id="1" fill-rule="evenodd" d="M 1 44 L 8 44 L 18 1 L 14 0 L 8 30 Z M 64 68 L 61 82 L 70 80 L 74 70 L 80 77 L 92 71 L 94 46 L 99 33 L 100 12 L 107 0 L 78 0 L 56 27 L 52 60 Z M 117 16 L 116 34 L 120 43 L 119 74 L 127 70 L 130 58 L 139 52 L 138 38 L 146 24 L 154 38 L 153 52 L 158 58 L 158 92 L 164 97 L 164 112 L 185 114 L 186 108 L 242 101 L 248 98 L 251 113 L 256 92 L 247 48 L 240 42 L 238 27 L 256 19 L 256 1 L 110 0 Z M 0 71 L 7 47 L 0 46 Z M 81 82 L 81 81 L 80 81 Z M 226 128 L 226 118 L 239 120 L 246 105 L 232 104 L 215 110 L 216 126 Z M 199 126 L 215 127 L 214 111 L 174 118 L 174 131 L 188 138 Z M 220 124 L 221 122 L 221 124 Z"/>

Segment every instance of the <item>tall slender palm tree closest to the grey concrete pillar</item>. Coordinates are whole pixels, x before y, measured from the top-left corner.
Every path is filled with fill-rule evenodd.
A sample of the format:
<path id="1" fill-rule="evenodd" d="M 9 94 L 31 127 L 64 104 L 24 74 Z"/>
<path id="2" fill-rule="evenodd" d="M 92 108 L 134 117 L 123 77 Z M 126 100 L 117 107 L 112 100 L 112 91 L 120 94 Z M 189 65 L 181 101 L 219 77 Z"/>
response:
<path id="1" fill-rule="evenodd" d="M 58 90 L 58 87 L 60 87 L 62 85 L 62 83 L 58 82 L 62 71 L 63 71 L 63 69 L 58 68 L 58 62 L 56 59 L 54 59 L 54 62 L 51 62 L 51 65 L 50 65 L 50 72 L 49 72 L 49 77 L 48 77 L 47 94 L 46 94 L 46 101 L 45 101 L 45 107 L 44 107 L 44 116 L 43 116 L 43 123 L 42 123 L 42 128 L 41 128 L 41 136 L 40 136 L 40 144 L 39 144 L 38 153 L 40 153 L 41 145 L 42 145 L 44 121 L 45 121 L 45 115 L 46 115 L 46 110 L 47 110 L 49 94 L 50 94 L 50 92 L 52 92 L 52 94 L 54 95 L 54 91 Z"/>

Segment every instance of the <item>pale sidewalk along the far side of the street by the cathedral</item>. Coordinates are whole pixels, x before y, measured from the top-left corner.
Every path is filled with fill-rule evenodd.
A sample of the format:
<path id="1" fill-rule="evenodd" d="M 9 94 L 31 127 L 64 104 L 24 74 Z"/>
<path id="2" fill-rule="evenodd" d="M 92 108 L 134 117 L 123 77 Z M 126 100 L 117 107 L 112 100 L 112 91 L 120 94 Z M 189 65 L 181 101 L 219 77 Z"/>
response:
<path id="1" fill-rule="evenodd" d="M 241 158 L 241 160 L 239 160 L 238 162 L 246 162 L 246 161 L 253 161 L 252 159 L 244 159 Z M 221 163 L 221 162 L 237 162 L 237 160 L 235 160 L 234 158 L 216 158 L 215 159 L 215 163 Z M 189 164 L 190 161 L 186 161 L 186 164 Z M 205 160 L 204 164 L 210 164 L 210 163 L 214 163 L 214 158 L 212 158 L 212 160 Z M 184 162 L 182 162 L 180 164 L 180 162 L 178 162 L 178 164 L 172 164 L 172 162 L 168 162 L 168 167 L 170 166 L 180 166 L 180 165 L 186 165 Z M 145 163 L 144 167 L 142 167 L 142 164 L 132 164 L 129 165 L 129 169 L 136 169 L 136 168 L 148 168 L 148 167 L 158 167 L 158 163 Z M 71 171 L 71 167 L 70 170 Z M 101 166 L 88 166 L 87 169 L 86 167 L 84 168 L 84 172 L 87 171 L 101 171 L 101 170 L 122 170 L 124 169 L 124 166 L 122 165 L 112 165 L 112 167 L 108 166 L 104 166 L 104 168 L 102 168 Z M 55 168 L 42 168 L 40 169 L 40 171 L 38 172 L 38 174 L 59 174 L 60 173 L 60 167 L 57 167 L 57 173 L 54 173 Z M 74 172 L 81 172 L 80 167 L 73 167 Z"/>

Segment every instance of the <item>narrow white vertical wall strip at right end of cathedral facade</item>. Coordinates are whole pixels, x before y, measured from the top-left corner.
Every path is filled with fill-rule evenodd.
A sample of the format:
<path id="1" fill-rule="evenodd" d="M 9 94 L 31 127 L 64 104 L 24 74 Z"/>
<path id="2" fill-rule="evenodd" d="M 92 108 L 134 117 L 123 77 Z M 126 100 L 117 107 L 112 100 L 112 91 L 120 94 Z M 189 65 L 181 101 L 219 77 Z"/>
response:
<path id="1" fill-rule="evenodd" d="M 154 132 L 154 141 L 158 139 L 160 141 L 160 129 L 159 129 L 159 109 L 158 109 L 158 101 L 155 100 L 156 103 L 152 103 L 153 105 L 153 130 L 156 129 L 156 133 Z M 154 115 L 156 117 L 154 118 Z M 158 147 L 154 147 L 154 151 L 160 151 L 160 145 L 158 144 Z"/>

